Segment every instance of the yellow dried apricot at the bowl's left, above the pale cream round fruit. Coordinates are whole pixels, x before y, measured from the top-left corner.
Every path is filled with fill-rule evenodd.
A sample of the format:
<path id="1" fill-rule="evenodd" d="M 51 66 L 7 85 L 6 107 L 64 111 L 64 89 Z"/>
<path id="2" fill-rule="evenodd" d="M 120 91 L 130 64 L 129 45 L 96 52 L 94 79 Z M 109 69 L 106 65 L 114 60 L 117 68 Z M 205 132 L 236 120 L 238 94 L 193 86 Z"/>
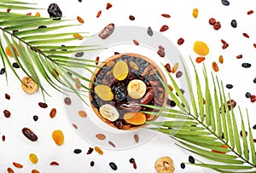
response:
<path id="1" fill-rule="evenodd" d="M 113 92 L 107 85 L 99 84 L 94 90 L 103 101 L 111 101 L 113 99 Z"/>

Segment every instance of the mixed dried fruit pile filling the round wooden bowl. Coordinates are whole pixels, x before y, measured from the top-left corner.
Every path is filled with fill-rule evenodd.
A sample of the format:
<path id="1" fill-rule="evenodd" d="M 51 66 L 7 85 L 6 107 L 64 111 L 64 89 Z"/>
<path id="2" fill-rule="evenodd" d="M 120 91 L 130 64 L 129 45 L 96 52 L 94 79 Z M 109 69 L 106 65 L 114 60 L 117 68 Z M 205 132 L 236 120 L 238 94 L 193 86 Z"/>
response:
<path id="1" fill-rule="evenodd" d="M 154 116 L 139 111 L 153 111 L 139 104 L 162 106 L 166 101 L 164 87 L 155 65 L 140 55 L 116 55 L 96 71 L 90 100 L 96 114 L 119 130 L 145 124 Z M 160 73 L 157 72 L 159 76 Z"/>

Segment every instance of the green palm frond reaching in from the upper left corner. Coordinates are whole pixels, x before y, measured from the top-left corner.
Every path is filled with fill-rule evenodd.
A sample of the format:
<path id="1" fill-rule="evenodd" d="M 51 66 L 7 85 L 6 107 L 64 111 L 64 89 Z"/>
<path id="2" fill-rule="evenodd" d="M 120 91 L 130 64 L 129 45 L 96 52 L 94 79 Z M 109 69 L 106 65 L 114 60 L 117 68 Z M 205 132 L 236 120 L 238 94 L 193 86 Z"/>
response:
<path id="1" fill-rule="evenodd" d="M 61 45 L 71 41 L 80 42 L 84 37 L 89 37 L 87 32 L 60 32 L 65 27 L 79 26 L 79 24 L 70 23 L 71 20 L 55 20 L 49 17 L 15 13 L 16 9 L 36 9 L 32 5 L 32 3 L 16 0 L 0 0 L 0 9 L 11 9 L 10 12 L 0 11 L 0 55 L 3 66 L 5 68 L 9 66 L 20 79 L 4 49 L 8 46 L 20 69 L 38 84 L 43 95 L 44 93 L 49 95 L 49 93 L 44 88 L 42 79 L 54 89 L 65 94 L 75 93 L 84 101 L 82 90 L 88 90 L 88 87 L 82 82 L 90 83 L 91 81 L 74 69 L 83 68 L 91 72 L 90 67 L 96 67 L 96 65 L 95 61 L 76 58 L 73 55 L 99 48 L 95 45 Z M 74 37 L 78 33 L 81 37 Z M 74 75 L 71 76 L 67 72 L 72 72 Z M 7 78 L 8 70 L 5 75 Z M 81 79 L 82 82 L 79 83 L 75 78 Z M 81 89 L 76 89 L 75 84 L 79 84 Z"/>

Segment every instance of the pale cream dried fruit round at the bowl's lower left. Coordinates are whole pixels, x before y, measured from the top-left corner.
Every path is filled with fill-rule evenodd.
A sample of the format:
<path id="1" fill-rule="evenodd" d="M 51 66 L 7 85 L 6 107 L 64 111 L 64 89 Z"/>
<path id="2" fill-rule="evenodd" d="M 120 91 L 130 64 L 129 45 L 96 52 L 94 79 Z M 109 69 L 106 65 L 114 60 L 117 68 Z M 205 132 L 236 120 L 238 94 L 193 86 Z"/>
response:
<path id="1" fill-rule="evenodd" d="M 119 118 L 117 109 L 109 104 L 102 105 L 102 107 L 100 107 L 100 113 L 103 118 L 106 118 L 109 121 L 115 121 Z"/>

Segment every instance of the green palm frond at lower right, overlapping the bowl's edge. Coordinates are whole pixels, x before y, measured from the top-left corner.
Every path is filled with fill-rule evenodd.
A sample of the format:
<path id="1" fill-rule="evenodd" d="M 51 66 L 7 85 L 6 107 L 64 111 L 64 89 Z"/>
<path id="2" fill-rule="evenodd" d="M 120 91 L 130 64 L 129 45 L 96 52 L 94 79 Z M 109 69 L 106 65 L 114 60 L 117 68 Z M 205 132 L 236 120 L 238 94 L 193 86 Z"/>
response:
<path id="1" fill-rule="evenodd" d="M 183 62 L 182 59 L 181 61 Z M 238 107 L 241 117 L 242 135 L 239 136 L 238 124 L 236 123 L 236 118 L 239 117 L 235 115 L 233 107 L 228 105 L 230 95 L 229 97 L 226 96 L 223 83 L 218 80 L 217 76 L 214 77 L 213 74 L 211 74 L 211 78 L 208 78 L 207 70 L 204 66 L 202 72 L 205 89 L 203 90 L 198 72 L 192 60 L 191 62 L 195 71 L 196 89 L 193 89 L 189 79 L 189 73 L 187 69 L 184 69 L 190 97 L 185 98 L 182 93 L 179 93 L 177 82 L 172 78 L 170 73 L 169 78 L 172 81 L 174 90 L 166 91 L 177 104 L 183 102 L 185 109 L 184 107 L 177 107 L 180 109 L 177 110 L 174 108 L 150 106 L 160 112 L 146 113 L 166 117 L 166 121 L 147 122 L 150 124 L 148 129 L 170 135 L 177 141 L 177 146 L 216 163 L 206 164 L 200 162 L 194 165 L 207 167 L 219 172 L 232 172 L 232 170 L 249 171 L 255 169 L 255 146 L 248 114 L 249 135 L 247 136 L 247 130 L 243 120 L 244 117 L 240 107 Z M 167 89 L 167 84 L 163 83 L 162 80 L 161 82 Z M 211 85 L 210 82 L 212 82 Z M 178 97 L 172 92 L 177 92 Z M 203 95 L 205 95 L 205 101 Z M 189 104 L 189 101 L 191 101 L 191 104 Z M 190 105 L 192 105 L 192 109 Z M 189 110 L 193 110 L 193 112 Z M 241 151 L 241 148 L 243 148 L 243 151 Z"/>

